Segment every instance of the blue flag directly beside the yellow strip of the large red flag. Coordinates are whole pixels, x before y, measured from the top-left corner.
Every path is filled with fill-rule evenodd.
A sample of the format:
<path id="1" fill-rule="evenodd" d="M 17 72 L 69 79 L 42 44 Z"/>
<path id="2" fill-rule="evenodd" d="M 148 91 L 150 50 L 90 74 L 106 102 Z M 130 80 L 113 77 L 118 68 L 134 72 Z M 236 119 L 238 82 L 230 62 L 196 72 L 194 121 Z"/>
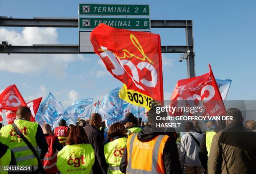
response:
<path id="1" fill-rule="evenodd" d="M 117 87 L 105 95 L 98 107 L 102 119 L 107 120 L 108 127 L 124 119 L 125 114 L 131 112 L 135 117 L 143 117 L 144 108 L 130 104 L 119 97 L 121 87 Z"/>

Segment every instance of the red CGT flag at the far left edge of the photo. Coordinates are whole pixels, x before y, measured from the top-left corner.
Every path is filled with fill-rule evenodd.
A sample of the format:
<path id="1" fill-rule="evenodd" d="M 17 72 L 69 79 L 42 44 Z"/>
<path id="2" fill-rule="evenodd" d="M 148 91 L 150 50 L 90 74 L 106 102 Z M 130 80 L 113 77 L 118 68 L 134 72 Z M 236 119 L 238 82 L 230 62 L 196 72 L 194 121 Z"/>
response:
<path id="1" fill-rule="evenodd" d="M 17 110 L 20 106 L 27 106 L 16 85 L 7 87 L 0 94 L 0 109 Z"/>

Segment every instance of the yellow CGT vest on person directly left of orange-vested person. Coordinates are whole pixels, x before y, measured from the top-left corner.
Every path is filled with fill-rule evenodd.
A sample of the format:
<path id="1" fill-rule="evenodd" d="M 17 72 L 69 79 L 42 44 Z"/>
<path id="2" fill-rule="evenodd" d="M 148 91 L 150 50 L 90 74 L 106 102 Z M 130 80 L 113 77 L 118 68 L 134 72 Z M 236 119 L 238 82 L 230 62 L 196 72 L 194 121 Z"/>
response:
<path id="1" fill-rule="evenodd" d="M 127 138 L 118 138 L 104 146 L 104 154 L 108 163 L 108 174 L 123 174 L 120 169 L 120 162 L 123 157 Z"/>

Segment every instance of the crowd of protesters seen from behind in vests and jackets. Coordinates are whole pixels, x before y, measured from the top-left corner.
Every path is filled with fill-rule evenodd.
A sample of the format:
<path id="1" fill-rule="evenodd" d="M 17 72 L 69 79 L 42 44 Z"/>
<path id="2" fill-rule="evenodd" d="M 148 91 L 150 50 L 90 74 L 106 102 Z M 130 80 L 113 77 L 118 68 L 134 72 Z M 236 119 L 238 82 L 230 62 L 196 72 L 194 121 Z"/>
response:
<path id="1" fill-rule="evenodd" d="M 175 129 L 156 127 L 156 107 L 145 114 L 146 125 L 127 113 L 107 133 L 98 113 L 77 125 L 61 119 L 51 130 L 49 124 L 30 122 L 30 109 L 20 107 L 14 123 L 0 129 L 0 172 L 18 165 L 30 167 L 23 174 L 256 173 L 256 123 L 248 120 L 243 126 L 240 110 L 227 110 L 233 121 L 206 120 L 207 132 L 196 121 L 186 122 L 178 147 Z"/>

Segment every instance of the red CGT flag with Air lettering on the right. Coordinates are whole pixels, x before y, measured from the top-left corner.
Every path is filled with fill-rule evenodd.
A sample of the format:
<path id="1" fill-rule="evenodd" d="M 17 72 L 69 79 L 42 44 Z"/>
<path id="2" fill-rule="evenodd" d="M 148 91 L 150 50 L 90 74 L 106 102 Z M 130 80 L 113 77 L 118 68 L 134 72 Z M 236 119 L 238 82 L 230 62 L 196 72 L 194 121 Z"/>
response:
<path id="1" fill-rule="evenodd" d="M 210 65 L 209 68 L 209 73 L 179 80 L 171 97 L 172 108 L 188 107 L 191 110 L 192 107 L 201 107 L 202 110 L 192 113 L 189 109 L 187 111 L 181 109 L 169 112 L 169 115 L 206 117 L 225 115 L 225 106 Z"/>

